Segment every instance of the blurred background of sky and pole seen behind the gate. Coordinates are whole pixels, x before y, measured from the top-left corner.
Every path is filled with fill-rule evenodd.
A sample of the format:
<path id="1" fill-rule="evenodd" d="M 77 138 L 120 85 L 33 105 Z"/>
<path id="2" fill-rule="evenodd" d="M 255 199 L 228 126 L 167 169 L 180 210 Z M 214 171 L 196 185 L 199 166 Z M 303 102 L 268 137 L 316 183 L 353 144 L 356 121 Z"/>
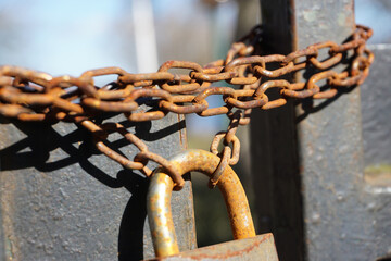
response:
<path id="1" fill-rule="evenodd" d="M 355 10 L 356 22 L 375 32 L 369 44 L 391 42 L 391 1 L 356 0 Z M 260 22 L 258 0 L 2 0 L 0 63 L 54 76 L 105 66 L 154 72 L 167 60 L 206 64 L 224 58 L 230 44 Z M 100 77 L 97 85 L 113 79 Z M 207 101 L 223 103 L 219 97 Z M 190 148 L 209 149 L 213 135 L 227 128 L 225 116 L 189 115 L 186 123 Z M 237 172 L 252 202 L 247 129 L 239 135 Z M 193 183 L 199 246 L 230 239 L 219 191 L 210 190 L 200 175 Z"/>

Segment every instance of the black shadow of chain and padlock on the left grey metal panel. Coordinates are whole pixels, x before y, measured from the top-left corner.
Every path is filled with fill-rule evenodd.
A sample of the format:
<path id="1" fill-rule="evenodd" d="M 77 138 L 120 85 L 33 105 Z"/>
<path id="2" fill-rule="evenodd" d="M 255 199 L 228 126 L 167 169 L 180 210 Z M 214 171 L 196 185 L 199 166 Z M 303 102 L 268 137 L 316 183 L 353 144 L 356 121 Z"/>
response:
<path id="1" fill-rule="evenodd" d="M 106 117 L 102 117 L 99 121 L 103 122 L 108 117 L 112 116 L 113 115 L 106 115 Z M 148 257 L 148 254 L 146 256 L 144 252 L 144 223 L 147 217 L 146 194 L 149 182 L 146 177 L 130 170 L 113 170 L 112 174 L 109 174 L 108 171 L 102 170 L 100 165 L 96 164 L 96 160 L 91 160 L 91 158 L 96 154 L 99 154 L 99 157 L 103 158 L 105 157 L 100 156 L 100 152 L 96 149 L 92 142 L 91 134 L 83 128 L 76 128 L 71 132 L 66 132 L 66 135 L 62 136 L 61 133 L 59 133 L 54 128 L 54 126 L 50 124 L 21 123 L 17 121 L 9 122 L 4 119 L 0 119 L 0 122 L 2 123 L 3 127 L 7 128 L 9 128 L 8 125 L 13 125 L 15 128 L 17 128 L 17 130 L 21 132 L 22 136 L 26 136 L 0 150 L 0 163 L 2 172 L 20 172 L 22 170 L 30 170 L 33 167 L 41 173 L 53 172 L 51 174 L 62 175 L 62 169 L 64 169 L 64 171 L 66 170 L 65 172 L 67 172 L 68 169 L 65 167 L 78 164 L 80 170 L 92 176 L 94 179 L 97 179 L 104 186 L 109 188 L 126 188 L 126 190 L 131 196 L 126 203 L 126 207 L 121 217 L 121 225 L 117 238 L 118 259 L 140 260 Z M 155 130 L 153 130 L 151 122 L 142 122 L 135 124 L 129 121 L 123 121 L 121 123 L 126 128 L 134 128 L 136 135 L 141 139 L 151 142 L 159 141 L 164 137 L 167 137 L 185 128 L 184 120 L 175 122 L 174 124 L 171 124 L 163 128 L 157 128 Z M 70 126 L 68 124 L 65 125 L 66 128 Z M 58 125 L 55 127 L 58 127 Z M 110 147 L 116 152 L 124 154 L 121 151 L 121 148 L 124 148 L 129 144 L 124 137 L 121 137 L 119 139 L 108 141 L 108 145 L 110 145 Z M 59 149 L 62 151 L 61 157 L 52 157 L 52 152 Z M 133 147 L 130 148 L 130 150 Z M 162 153 L 162 151 L 160 151 L 160 153 Z M 78 166 L 73 170 L 78 170 Z M 84 175 L 85 173 L 83 171 L 77 172 L 78 174 Z M 23 174 L 29 175 L 29 172 L 22 173 L 22 175 Z M 189 176 L 187 176 L 186 179 L 189 179 Z M 85 190 L 84 186 L 86 184 L 77 187 L 78 181 L 76 179 L 74 183 L 76 191 Z M 61 184 L 59 184 L 59 189 L 60 185 Z M 75 194 L 75 191 L 68 192 Z M 25 198 L 24 200 L 28 201 L 29 199 Z M 83 200 L 83 198 L 79 198 L 79 200 Z M 101 200 L 101 198 L 97 197 L 97 200 Z M 13 202 L 10 203 L 13 204 Z M 94 209 L 91 211 L 96 211 L 97 213 L 100 212 L 99 209 Z M 111 213 L 104 214 L 109 214 L 108 219 L 110 219 L 109 216 Z M 72 226 L 75 224 L 68 225 Z M 64 228 L 65 227 L 63 227 L 62 229 Z M 100 228 L 93 227 L 93 229 Z"/>

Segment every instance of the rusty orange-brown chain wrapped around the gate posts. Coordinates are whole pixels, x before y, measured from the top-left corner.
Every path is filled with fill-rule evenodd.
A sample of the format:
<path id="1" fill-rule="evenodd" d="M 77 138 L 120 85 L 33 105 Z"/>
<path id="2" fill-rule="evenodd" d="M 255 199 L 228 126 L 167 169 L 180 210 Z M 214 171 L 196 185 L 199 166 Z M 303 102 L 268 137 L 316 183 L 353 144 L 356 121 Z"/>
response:
<path id="1" fill-rule="evenodd" d="M 240 141 L 236 130 L 239 125 L 250 123 L 252 109 L 278 108 L 286 104 L 289 98 L 332 98 L 339 88 L 362 84 L 374 61 L 374 54 L 365 47 L 373 30 L 365 26 L 357 25 L 351 39 L 342 45 L 325 41 L 288 55 L 254 55 L 261 33 L 262 28 L 257 26 L 235 42 L 225 60 L 205 66 L 194 62 L 167 61 L 155 73 L 131 74 L 119 67 L 103 67 L 87 71 L 79 77 L 53 77 L 42 72 L 4 65 L 0 67 L 0 114 L 25 122 L 76 123 L 92 133 L 99 151 L 126 169 L 139 170 L 150 176 L 152 172 L 147 163 L 154 161 L 161 164 L 172 176 L 176 189 L 180 189 L 185 181 L 166 159 L 149 151 L 141 139 L 121 124 L 99 124 L 97 116 L 103 112 L 124 113 L 128 121 L 144 122 L 163 119 L 168 112 L 197 113 L 200 116 L 226 114 L 230 119 L 229 127 L 226 132 L 217 133 L 211 146 L 211 151 L 222 157 L 211 178 L 211 186 L 215 186 L 224 169 L 239 160 Z M 328 57 L 319 60 L 318 54 L 323 49 L 328 51 Z M 336 64 L 346 59 L 350 66 L 345 71 L 332 71 Z M 187 70 L 189 73 L 175 74 L 169 72 L 172 69 Z M 306 82 L 281 79 L 281 76 L 300 70 L 311 72 Z M 98 87 L 94 78 L 102 75 L 116 75 L 117 79 Z M 320 90 L 317 83 L 324 79 L 327 80 L 327 89 Z M 229 86 L 212 85 L 217 82 L 225 82 Z M 270 88 L 279 90 L 279 98 L 269 99 L 266 92 Z M 210 108 L 206 98 L 216 95 L 223 97 L 225 104 Z M 151 111 L 140 111 L 141 98 L 154 102 Z M 133 160 L 115 152 L 104 142 L 112 133 L 123 135 L 137 147 L 139 152 Z M 219 152 L 217 148 L 222 140 L 224 148 Z"/>

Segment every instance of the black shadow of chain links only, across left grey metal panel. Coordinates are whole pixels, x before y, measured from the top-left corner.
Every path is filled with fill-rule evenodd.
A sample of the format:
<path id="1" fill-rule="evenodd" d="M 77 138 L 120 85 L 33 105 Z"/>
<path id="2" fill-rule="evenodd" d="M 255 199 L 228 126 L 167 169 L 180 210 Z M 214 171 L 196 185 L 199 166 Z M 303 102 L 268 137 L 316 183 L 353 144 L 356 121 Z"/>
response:
<path id="1" fill-rule="evenodd" d="M 88 130 L 78 128 L 65 136 L 61 136 L 49 124 L 45 123 L 26 124 L 15 121 L 12 122 L 12 124 L 27 137 L 0 150 L 0 162 L 2 171 L 22 170 L 33 166 L 40 172 L 51 172 L 75 163 L 79 163 L 80 166 L 92 176 L 96 175 L 97 171 L 102 174 L 102 177 L 106 175 L 99 171 L 99 169 L 94 169 L 88 162 L 88 158 L 90 156 L 100 154 L 100 152 L 91 142 L 92 136 Z M 122 124 L 126 128 L 135 127 L 136 136 L 146 141 L 156 141 L 177 132 L 178 129 L 185 128 L 185 121 L 172 124 L 171 126 L 154 133 L 150 132 L 151 122 L 135 124 L 128 121 L 124 121 Z M 38 133 L 37 129 L 39 129 Z M 48 142 L 48 140 L 50 140 L 50 142 Z M 79 148 L 74 146 L 76 142 L 81 142 Z M 109 144 L 113 150 L 125 157 L 125 154 L 119 150 L 119 148 L 129 145 L 125 138 L 121 138 L 111 142 L 109 141 Z M 70 157 L 55 162 L 47 162 L 50 156 L 50 151 L 53 151 L 58 148 L 61 148 Z M 24 152 L 26 149 L 29 149 L 30 151 Z M 110 177 L 109 175 L 106 176 Z M 118 187 L 117 185 L 112 184 L 112 181 L 109 182 L 110 178 L 99 178 L 99 176 L 94 177 L 109 187 Z"/>

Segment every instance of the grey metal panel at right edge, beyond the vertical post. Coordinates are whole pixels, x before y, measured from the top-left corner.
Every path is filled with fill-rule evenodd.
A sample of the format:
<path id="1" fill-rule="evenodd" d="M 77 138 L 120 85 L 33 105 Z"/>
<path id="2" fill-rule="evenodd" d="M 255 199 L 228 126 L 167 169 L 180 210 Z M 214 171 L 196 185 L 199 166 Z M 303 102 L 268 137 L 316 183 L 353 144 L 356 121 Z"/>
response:
<path id="1" fill-rule="evenodd" d="M 391 46 L 369 48 L 376 60 L 370 76 L 361 86 L 365 198 L 357 207 L 368 215 L 365 245 L 370 244 L 367 250 L 375 259 L 391 257 Z"/>

